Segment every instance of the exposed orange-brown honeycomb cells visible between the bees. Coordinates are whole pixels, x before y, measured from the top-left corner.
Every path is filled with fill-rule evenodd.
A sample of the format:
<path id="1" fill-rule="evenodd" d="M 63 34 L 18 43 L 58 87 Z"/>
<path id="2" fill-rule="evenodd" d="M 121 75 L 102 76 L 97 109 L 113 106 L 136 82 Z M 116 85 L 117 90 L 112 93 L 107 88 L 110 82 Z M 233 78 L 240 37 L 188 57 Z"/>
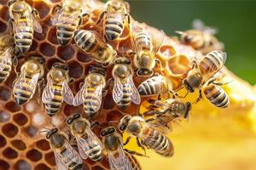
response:
<path id="1" fill-rule="evenodd" d="M 9 13 L 6 6 L 7 0 L 0 2 L 0 34 L 9 33 Z M 80 82 L 84 82 L 84 77 L 87 75 L 90 65 L 96 65 L 96 62 L 86 54 L 82 53 L 79 48 L 73 44 L 62 47 L 56 39 L 55 26 L 51 26 L 50 18 L 53 14 L 55 4 L 61 3 L 61 0 L 27 0 L 33 8 L 37 8 L 40 14 L 40 23 L 43 27 L 43 33 L 34 33 L 32 48 L 26 53 L 25 57 L 19 59 L 17 70 L 20 70 L 20 65 L 24 63 L 30 56 L 37 55 L 45 59 L 45 72 L 49 71 L 51 66 L 57 62 L 67 63 L 69 67 L 69 76 L 74 78 L 71 85 L 73 94 L 79 92 Z M 84 20 L 81 29 L 96 30 L 102 33 L 101 26 L 95 26 L 100 9 L 103 3 L 96 2 L 96 9 L 88 20 Z M 154 34 L 157 29 L 147 26 L 144 23 L 134 21 L 134 26 L 141 26 L 148 33 Z M 123 37 L 127 36 L 128 30 L 125 28 Z M 121 54 L 122 50 L 131 48 L 131 37 L 112 42 L 114 48 Z M 200 59 L 201 53 L 195 51 L 189 46 L 180 44 L 175 38 L 165 37 L 165 41 L 160 48 L 157 56 L 163 69 L 155 68 L 155 71 L 165 74 L 172 78 L 173 88 L 179 88 L 180 82 L 185 73 L 191 67 L 192 59 Z M 107 79 L 111 77 L 112 66 L 107 70 Z M 70 116 L 75 111 L 83 112 L 82 106 L 74 107 L 64 104 L 61 111 L 53 117 L 47 116 L 41 106 L 42 102 L 35 96 L 26 105 L 17 105 L 12 95 L 12 82 L 15 80 L 15 72 L 12 71 L 6 82 L 0 85 L 0 169 L 15 169 L 15 170 L 48 170 L 54 169 L 55 159 L 49 143 L 45 140 L 44 135 L 39 133 L 43 127 L 61 128 L 67 132 L 67 126 L 63 121 L 67 116 Z M 143 82 L 143 78 L 136 77 L 135 83 L 138 85 Z M 103 99 L 102 110 L 93 118 L 102 124 L 102 127 L 117 126 L 117 122 L 124 115 L 136 115 L 140 108 L 137 105 L 131 104 L 126 110 L 121 110 L 115 105 L 112 98 L 112 91 L 108 90 L 108 94 Z M 39 105 L 38 105 L 39 103 Z M 146 99 L 143 99 L 143 105 Z M 146 104 L 145 104 L 146 105 Z M 99 135 L 100 128 L 95 129 Z M 108 169 L 108 161 L 104 158 L 101 162 L 84 161 L 84 170 L 104 170 Z"/>

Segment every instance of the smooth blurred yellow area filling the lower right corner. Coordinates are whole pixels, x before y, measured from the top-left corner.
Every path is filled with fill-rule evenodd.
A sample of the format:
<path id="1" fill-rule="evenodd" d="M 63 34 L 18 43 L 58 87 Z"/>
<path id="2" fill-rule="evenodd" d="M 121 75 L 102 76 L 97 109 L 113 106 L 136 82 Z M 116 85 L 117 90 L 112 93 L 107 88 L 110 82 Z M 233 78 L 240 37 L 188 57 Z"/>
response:
<path id="1" fill-rule="evenodd" d="M 164 158 L 147 150 L 150 159 L 137 156 L 143 169 L 256 169 L 256 88 L 230 72 L 223 82 L 230 79 L 233 81 L 223 87 L 230 96 L 230 107 L 220 110 L 207 99 L 201 100 L 193 108 L 189 121 L 172 123 L 169 138 L 175 148 L 174 156 Z M 193 102 L 196 96 L 190 94 L 187 99 Z M 127 148 L 143 153 L 135 139 Z"/>

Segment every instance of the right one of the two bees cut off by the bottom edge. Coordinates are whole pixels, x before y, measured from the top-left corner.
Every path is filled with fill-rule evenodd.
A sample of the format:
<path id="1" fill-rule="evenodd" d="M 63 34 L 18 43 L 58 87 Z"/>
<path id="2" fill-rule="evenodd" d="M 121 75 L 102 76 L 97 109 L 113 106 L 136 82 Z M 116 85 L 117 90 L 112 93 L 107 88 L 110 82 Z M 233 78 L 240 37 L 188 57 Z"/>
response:
<path id="1" fill-rule="evenodd" d="M 101 132 L 102 142 L 108 152 L 111 170 L 132 170 L 131 162 L 125 156 L 123 139 L 114 127 L 106 127 Z"/>

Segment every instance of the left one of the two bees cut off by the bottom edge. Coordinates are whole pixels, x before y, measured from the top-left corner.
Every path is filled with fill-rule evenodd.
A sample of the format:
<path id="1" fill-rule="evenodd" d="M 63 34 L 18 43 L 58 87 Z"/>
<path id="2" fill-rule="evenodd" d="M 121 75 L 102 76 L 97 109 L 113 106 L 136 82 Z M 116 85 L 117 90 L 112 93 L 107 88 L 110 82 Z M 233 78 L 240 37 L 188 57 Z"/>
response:
<path id="1" fill-rule="evenodd" d="M 46 134 L 49 145 L 55 154 L 57 170 L 80 169 L 82 170 L 82 158 L 77 150 L 68 142 L 66 133 L 60 132 L 57 128 L 50 129 Z"/>

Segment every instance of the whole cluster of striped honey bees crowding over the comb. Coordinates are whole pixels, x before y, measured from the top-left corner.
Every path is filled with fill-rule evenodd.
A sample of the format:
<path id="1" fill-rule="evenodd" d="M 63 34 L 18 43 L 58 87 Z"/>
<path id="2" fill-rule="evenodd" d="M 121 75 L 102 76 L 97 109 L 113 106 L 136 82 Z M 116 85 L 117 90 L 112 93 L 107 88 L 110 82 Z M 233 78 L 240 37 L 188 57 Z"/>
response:
<path id="1" fill-rule="evenodd" d="M 169 157 L 173 155 L 172 142 L 166 137 L 170 122 L 188 118 L 191 106 L 201 100 L 202 94 L 218 108 L 230 104 L 221 88 L 224 83 L 218 82 L 218 71 L 224 66 L 226 54 L 217 46 L 213 47 L 221 42 L 210 31 L 178 32 L 182 34 L 181 42 L 205 54 L 201 59 L 195 56 L 181 80 L 181 88 L 185 88 L 187 94 L 199 90 L 200 95 L 193 103 L 184 101 L 186 95 L 177 94 L 181 88 L 173 88 L 172 79 L 163 74 L 162 62 L 157 57 L 164 32 L 152 35 L 138 26 L 129 14 L 129 4 L 124 1 L 109 0 L 101 8 L 97 3 L 94 0 L 63 1 L 55 5 L 50 19 L 62 49 L 73 43 L 82 55 L 93 59 L 93 65 L 85 68 L 88 74 L 84 75 L 84 82 L 79 83 L 75 95 L 68 59 L 52 60 L 51 65 L 46 66 L 44 56 L 29 54 L 33 51 L 34 31 L 44 34 L 44 28 L 37 9 L 23 0 L 7 3 L 10 33 L 0 39 L 0 81 L 5 82 L 13 69 L 16 104 L 26 105 L 37 98 L 48 116 L 61 114 L 64 102 L 73 105 L 73 114 L 65 120 L 69 133 L 57 127 L 45 127 L 42 131 L 54 152 L 57 169 L 82 169 L 83 159 L 100 162 L 104 157 L 113 170 L 141 169 L 133 155 L 146 156 L 146 151 L 142 154 L 124 149 L 131 137 L 137 139 L 143 150 L 151 149 Z M 95 17 L 96 12 L 100 12 L 98 17 Z M 90 26 L 84 26 L 84 20 L 90 22 Z M 119 46 L 120 41 L 130 45 Z M 106 98 L 108 94 L 111 99 Z M 129 111 L 131 107 L 136 107 L 137 111 L 119 117 L 113 123 L 115 126 L 98 122 L 96 117 L 102 116 L 102 103 L 106 99 L 113 101 L 120 111 Z M 139 111 L 142 101 L 150 105 L 147 111 Z M 101 129 L 101 139 L 94 128 Z M 125 142 L 122 133 L 130 136 Z"/>

